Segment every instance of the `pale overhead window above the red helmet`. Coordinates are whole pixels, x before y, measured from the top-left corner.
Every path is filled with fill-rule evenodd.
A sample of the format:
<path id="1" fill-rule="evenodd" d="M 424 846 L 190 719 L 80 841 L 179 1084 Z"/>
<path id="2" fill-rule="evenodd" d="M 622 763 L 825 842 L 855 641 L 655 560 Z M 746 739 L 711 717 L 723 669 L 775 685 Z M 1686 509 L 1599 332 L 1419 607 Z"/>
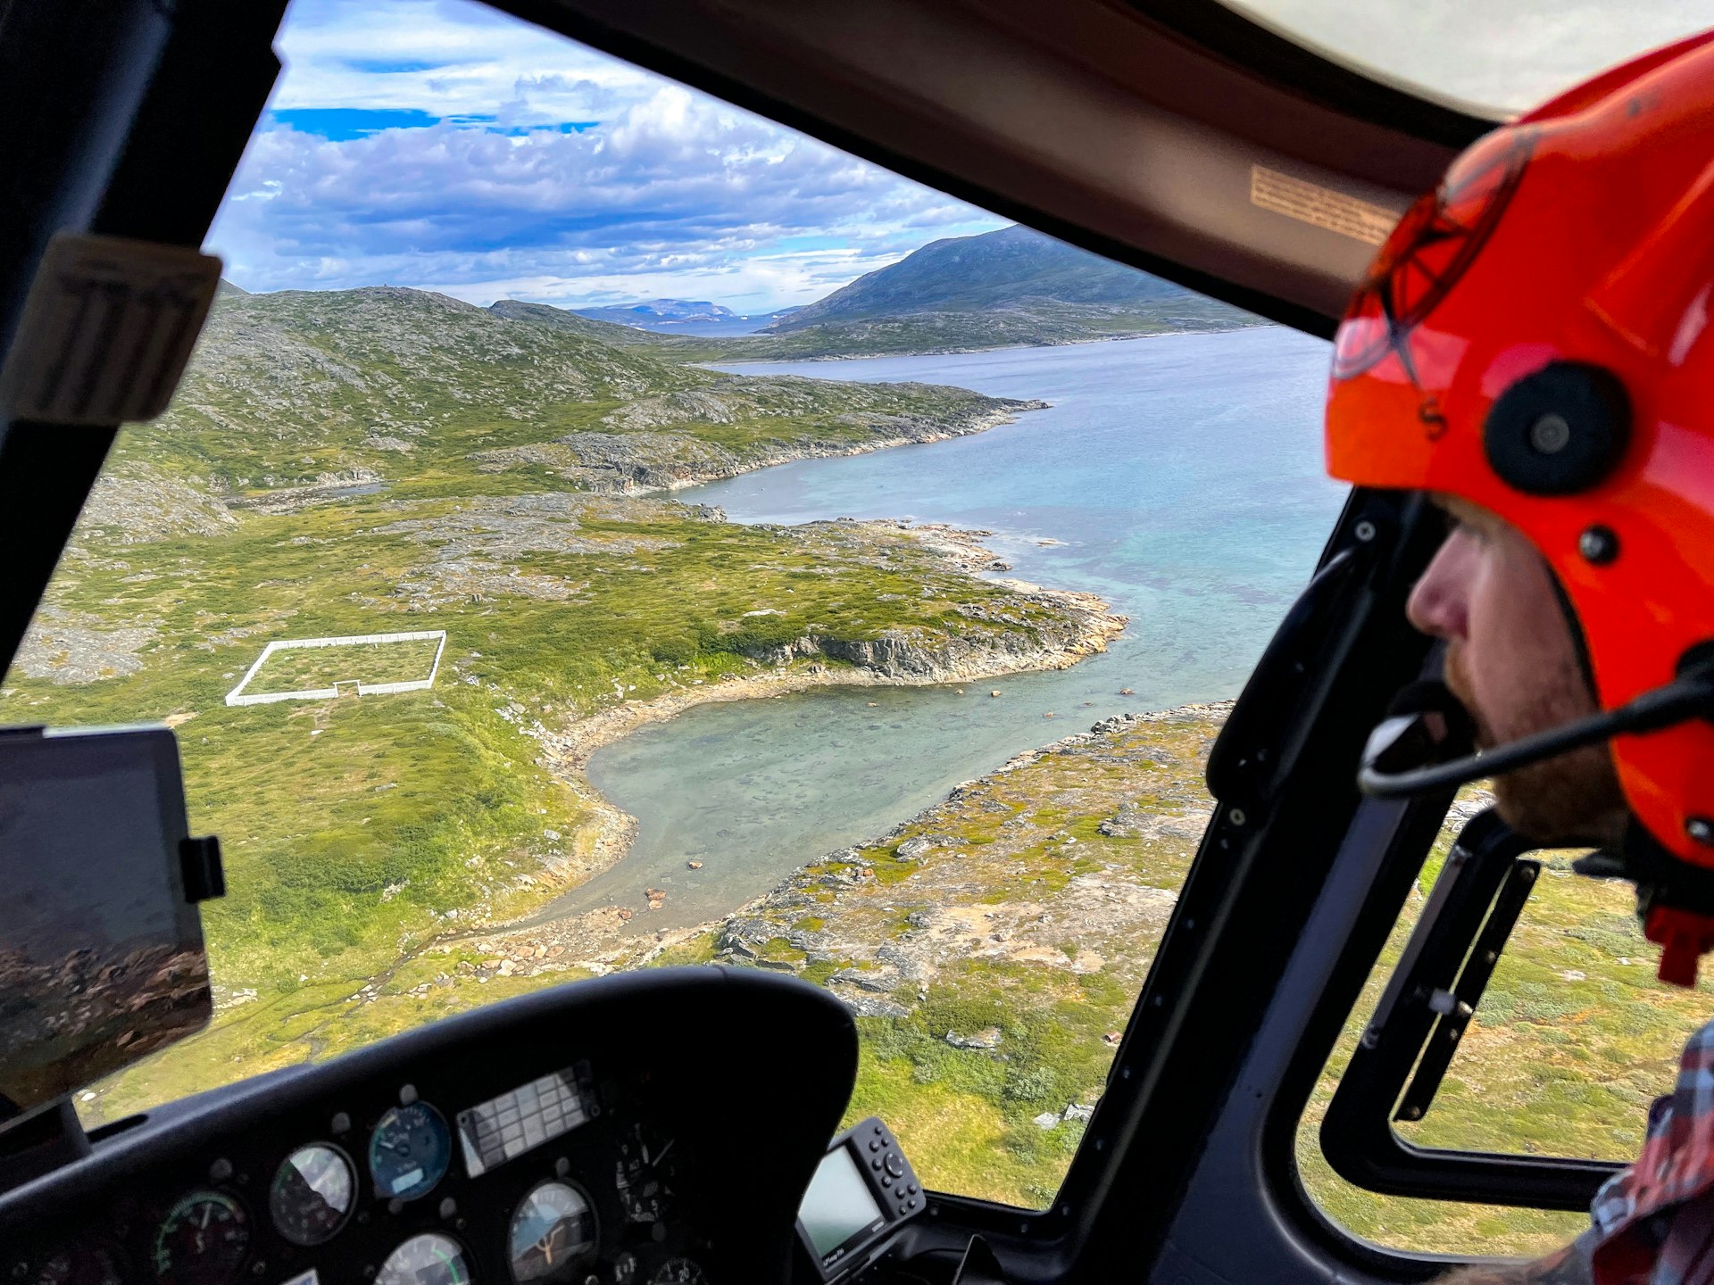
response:
<path id="1" fill-rule="evenodd" d="M 1639 10 L 1601 0 L 1565 10 L 1551 0 L 1464 5 L 1369 0 L 1222 0 L 1253 22 L 1428 98 L 1481 115 L 1525 111 L 1603 67 L 1714 26 L 1705 0 Z"/>

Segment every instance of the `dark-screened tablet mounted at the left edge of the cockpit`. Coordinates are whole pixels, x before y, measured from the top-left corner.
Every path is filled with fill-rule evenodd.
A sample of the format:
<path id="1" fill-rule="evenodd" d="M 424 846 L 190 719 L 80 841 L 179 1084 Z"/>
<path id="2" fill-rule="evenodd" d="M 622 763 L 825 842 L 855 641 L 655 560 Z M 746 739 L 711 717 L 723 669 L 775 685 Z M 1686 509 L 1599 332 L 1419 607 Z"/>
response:
<path id="1" fill-rule="evenodd" d="M 0 1124 L 207 1025 L 223 884 L 171 730 L 0 732 Z"/>

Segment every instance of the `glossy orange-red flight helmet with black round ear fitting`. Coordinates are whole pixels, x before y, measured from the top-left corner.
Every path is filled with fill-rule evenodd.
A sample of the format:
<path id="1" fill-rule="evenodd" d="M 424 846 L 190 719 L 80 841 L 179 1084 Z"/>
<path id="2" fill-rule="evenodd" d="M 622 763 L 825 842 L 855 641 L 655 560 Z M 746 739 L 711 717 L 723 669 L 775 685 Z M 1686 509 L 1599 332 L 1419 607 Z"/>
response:
<path id="1" fill-rule="evenodd" d="M 1495 130 L 1411 207 L 1339 327 L 1328 471 L 1512 523 L 1618 709 L 1714 651 L 1711 320 L 1714 33 Z M 1659 858 L 1714 888 L 1714 723 L 1613 757 Z M 1647 910 L 1671 980 L 1714 946 L 1692 901 Z"/>

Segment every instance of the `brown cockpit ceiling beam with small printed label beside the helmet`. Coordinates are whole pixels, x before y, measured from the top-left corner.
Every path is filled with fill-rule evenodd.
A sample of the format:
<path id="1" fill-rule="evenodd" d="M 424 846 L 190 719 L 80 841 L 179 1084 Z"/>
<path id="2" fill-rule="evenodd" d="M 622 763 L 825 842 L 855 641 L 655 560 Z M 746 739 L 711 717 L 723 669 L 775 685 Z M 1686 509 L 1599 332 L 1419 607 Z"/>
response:
<path id="1" fill-rule="evenodd" d="M 1387 226 L 1491 127 L 1318 58 L 1357 93 L 1289 84 L 1181 34 L 1174 5 L 495 2 L 1318 334 Z"/>

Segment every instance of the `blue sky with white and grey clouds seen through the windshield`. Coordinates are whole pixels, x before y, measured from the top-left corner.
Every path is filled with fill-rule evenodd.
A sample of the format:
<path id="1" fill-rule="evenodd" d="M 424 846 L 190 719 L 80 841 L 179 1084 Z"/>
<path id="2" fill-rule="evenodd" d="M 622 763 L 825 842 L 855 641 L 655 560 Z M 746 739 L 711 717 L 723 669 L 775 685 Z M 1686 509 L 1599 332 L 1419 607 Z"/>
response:
<path id="1" fill-rule="evenodd" d="M 295 0 L 209 248 L 245 290 L 807 303 L 984 211 L 466 0 Z"/>

